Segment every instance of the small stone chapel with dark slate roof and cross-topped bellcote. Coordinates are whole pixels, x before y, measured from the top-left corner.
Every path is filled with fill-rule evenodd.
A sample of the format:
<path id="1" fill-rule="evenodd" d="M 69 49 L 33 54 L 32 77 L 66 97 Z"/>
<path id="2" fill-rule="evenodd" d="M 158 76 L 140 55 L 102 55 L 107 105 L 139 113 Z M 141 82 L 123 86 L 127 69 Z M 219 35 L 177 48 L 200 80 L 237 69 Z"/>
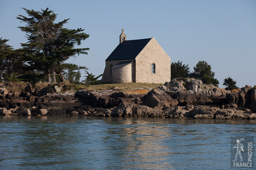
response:
<path id="1" fill-rule="evenodd" d="M 154 37 L 126 40 L 124 29 L 120 44 L 106 59 L 101 82 L 164 83 L 171 81 L 171 58 Z"/>

